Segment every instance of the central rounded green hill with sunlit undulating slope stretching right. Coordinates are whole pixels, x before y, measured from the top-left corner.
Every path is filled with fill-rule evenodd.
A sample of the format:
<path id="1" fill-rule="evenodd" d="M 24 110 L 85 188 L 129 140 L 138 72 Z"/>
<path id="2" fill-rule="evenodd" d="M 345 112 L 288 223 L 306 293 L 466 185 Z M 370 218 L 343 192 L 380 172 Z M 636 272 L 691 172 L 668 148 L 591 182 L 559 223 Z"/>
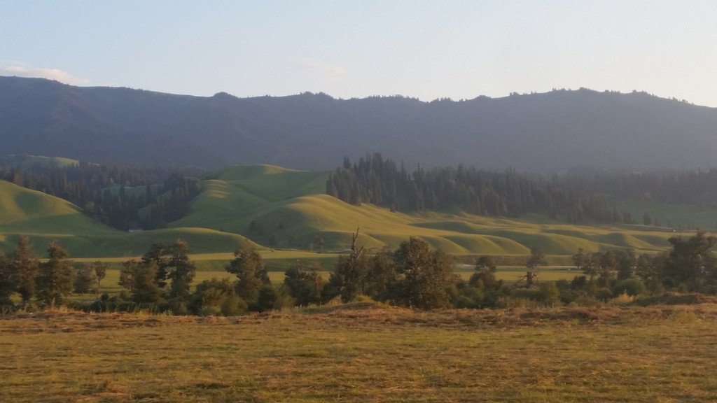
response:
<path id="1" fill-rule="evenodd" d="M 233 166 L 209 174 L 192 212 L 174 227 L 204 226 L 237 232 L 261 245 L 341 250 L 361 227 L 366 247 L 397 247 L 410 236 L 453 254 L 525 255 L 531 247 L 549 254 L 632 247 L 652 252 L 667 245 L 669 232 L 640 227 L 578 227 L 467 214 L 400 214 L 371 205 L 351 206 L 323 194 L 326 175 L 275 166 Z M 250 229 L 250 223 L 254 222 Z M 320 238 L 320 240 L 319 240 Z M 313 245 L 311 245 L 313 244 Z"/>

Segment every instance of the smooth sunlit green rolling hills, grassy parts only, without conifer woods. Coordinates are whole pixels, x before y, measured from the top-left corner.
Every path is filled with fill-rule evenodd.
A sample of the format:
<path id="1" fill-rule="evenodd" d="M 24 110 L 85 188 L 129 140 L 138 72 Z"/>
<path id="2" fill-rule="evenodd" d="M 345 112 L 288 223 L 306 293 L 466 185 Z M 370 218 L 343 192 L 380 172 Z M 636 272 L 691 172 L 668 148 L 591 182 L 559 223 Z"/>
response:
<path id="1" fill-rule="evenodd" d="M 213 171 L 202 178 L 189 214 L 166 229 L 141 232 L 111 229 L 65 200 L 0 181 L 0 249 L 12 250 L 17 237 L 27 234 L 39 255 L 47 242 L 58 240 L 72 257 L 87 258 L 137 256 L 153 242 L 176 239 L 186 240 L 197 254 L 229 254 L 239 244 L 336 253 L 350 246 L 352 232 L 360 227 L 359 243 L 369 250 L 396 248 L 415 236 L 455 255 L 527 255 L 532 247 L 573 255 L 579 247 L 657 252 L 674 235 L 637 225 L 590 227 L 544 217 L 403 214 L 371 204 L 353 206 L 323 194 L 327 177 L 327 172 L 277 166 Z"/>

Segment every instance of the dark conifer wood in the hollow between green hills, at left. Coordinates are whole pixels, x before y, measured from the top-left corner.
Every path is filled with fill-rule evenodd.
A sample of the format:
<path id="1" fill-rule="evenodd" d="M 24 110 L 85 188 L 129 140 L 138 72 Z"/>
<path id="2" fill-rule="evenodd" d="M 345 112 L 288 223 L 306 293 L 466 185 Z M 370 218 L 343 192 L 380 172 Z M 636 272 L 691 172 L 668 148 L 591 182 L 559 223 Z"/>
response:
<path id="1" fill-rule="evenodd" d="M 84 161 L 25 169 L 0 164 L 0 179 L 70 201 L 88 217 L 123 231 L 166 227 L 189 212 L 201 188 L 199 179 L 172 169 Z"/>

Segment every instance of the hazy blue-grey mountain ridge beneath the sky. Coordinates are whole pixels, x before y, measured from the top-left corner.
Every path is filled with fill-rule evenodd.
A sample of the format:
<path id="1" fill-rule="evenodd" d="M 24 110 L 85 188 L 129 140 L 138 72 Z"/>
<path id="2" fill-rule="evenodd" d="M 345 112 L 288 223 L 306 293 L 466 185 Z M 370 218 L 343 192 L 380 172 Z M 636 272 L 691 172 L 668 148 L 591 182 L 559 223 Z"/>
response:
<path id="1" fill-rule="evenodd" d="M 333 169 L 380 152 L 407 168 L 527 171 L 717 166 L 717 108 L 646 93 L 555 90 L 435 100 L 235 98 L 0 77 L 0 153 L 216 168 Z"/>

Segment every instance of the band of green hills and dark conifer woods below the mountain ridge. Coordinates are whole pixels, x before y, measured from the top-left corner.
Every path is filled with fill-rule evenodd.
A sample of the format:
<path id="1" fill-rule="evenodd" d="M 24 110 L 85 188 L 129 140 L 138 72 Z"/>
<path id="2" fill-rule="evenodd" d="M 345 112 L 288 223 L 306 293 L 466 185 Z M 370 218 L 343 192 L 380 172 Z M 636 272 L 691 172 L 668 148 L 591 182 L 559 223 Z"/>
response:
<path id="1" fill-rule="evenodd" d="M 456 255 L 521 255 L 536 246 L 555 255 L 578 248 L 655 252 L 668 246 L 673 229 L 708 229 L 715 222 L 706 204 L 661 201 L 653 174 L 629 176 L 639 194 L 655 194 L 655 201 L 631 205 L 630 194 L 595 194 L 577 186 L 577 176 L 465 166 L 409 171 L 380 154 L 356 163 L 346 158 L 334 171 L 262 165 L 204 173 L 14 156 L 0 164 L 0 174 L 9 180 L 0 181 L 6 189 L 0 250 L 20 234 L 34 234 L 36 247 L 61 238 L 75 256 L 125 256 L 148 242 L 178 238 L 201 253 L 229 253 L 237 242 L 338 252 L 351 245 L 356 227 L 361 245 L 376 250 L 414 236 Z M 681 200 L 711 191 L 709 172 L 654 175 L 673 178 L 685 193 Z M 622 174 L 612 178 L 627 181 Z M 592 179 L 586 180 L 589 186 Z"/>

